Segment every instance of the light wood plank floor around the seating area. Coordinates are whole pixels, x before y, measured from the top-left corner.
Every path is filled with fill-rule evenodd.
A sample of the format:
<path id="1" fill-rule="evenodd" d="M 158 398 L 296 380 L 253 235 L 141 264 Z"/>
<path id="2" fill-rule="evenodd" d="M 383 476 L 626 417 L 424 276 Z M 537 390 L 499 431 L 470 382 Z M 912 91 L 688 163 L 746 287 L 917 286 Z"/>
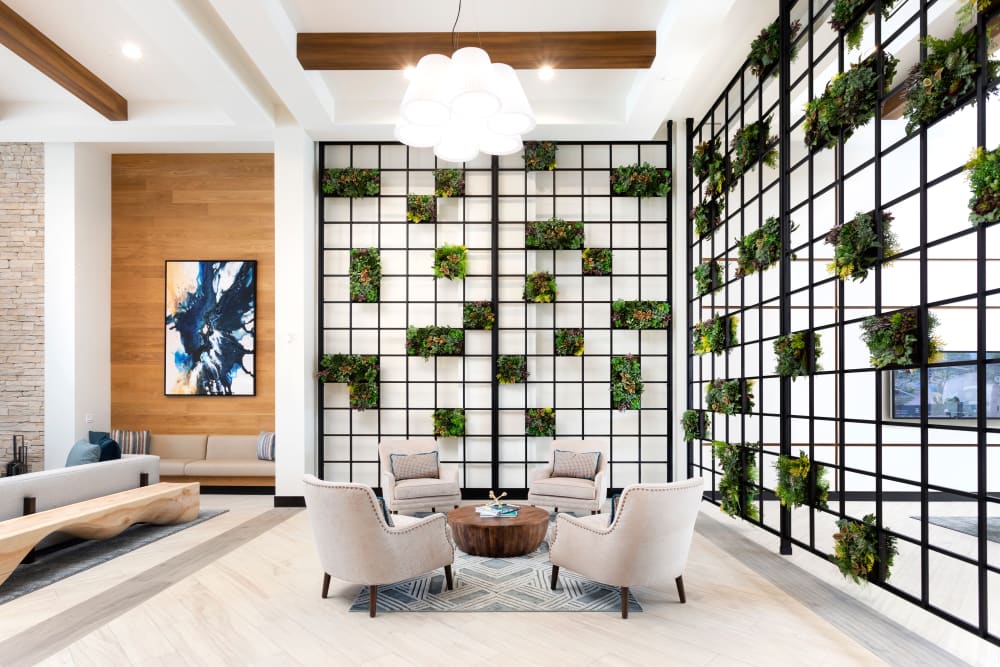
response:
<path id="1" fill-rule="evenodd" d="M 759 574 L 753 568 L 768 567 L 767 550 L 736 522 L 718 521 L 713 506 L 699 518 L 685 605 L 668 582 L 635 589 L 644 611 L 628 620 L 606 613 L 370 619 L 348 612 L 359 586 L 334 581 L 330 597 L 320 598 L 305 512 L 270 502 L 203 496 L 203 507 L 230 511 L 0 606 L 0 664 L 904 664 L 825 620 L 828 610 L 815 600 L 796 599 L 789 586 Z"/>

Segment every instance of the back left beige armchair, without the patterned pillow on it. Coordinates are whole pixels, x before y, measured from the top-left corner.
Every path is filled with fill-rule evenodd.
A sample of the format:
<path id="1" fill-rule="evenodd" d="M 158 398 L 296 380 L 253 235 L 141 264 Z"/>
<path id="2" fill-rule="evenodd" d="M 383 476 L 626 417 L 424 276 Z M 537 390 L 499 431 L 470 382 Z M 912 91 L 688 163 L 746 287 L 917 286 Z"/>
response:
<path id="1" fill-rule="evenodd" d="M 378 456 L 382 463 L 382 495 L 389 511 L 429 509 L 435 512 L 439 507 L 458 507 L 462 500 L 462 492 L 458 487 L 458 470 L 445 471 L 438 466 L 437 477 L 415 479 L 397 479 L 393 473 L 393 454 L 422 454 L 431 451 L 438 451 L 437 440 L 433 438 L 383 440 L 378 444 Z"/>

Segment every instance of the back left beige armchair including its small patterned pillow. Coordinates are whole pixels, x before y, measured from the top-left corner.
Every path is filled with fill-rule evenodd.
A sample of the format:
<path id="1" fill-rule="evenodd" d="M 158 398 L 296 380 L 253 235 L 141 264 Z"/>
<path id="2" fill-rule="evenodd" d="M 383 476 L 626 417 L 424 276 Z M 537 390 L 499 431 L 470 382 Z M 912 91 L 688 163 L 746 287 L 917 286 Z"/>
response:
<path id="1" fill-rule="evenodd" d="M 433 438 L 383 440 L 378 445 L 382 463 L 382 495 L 391 512 L 458 507 L 462 492 L 458 470 L 444 471 Z"/>

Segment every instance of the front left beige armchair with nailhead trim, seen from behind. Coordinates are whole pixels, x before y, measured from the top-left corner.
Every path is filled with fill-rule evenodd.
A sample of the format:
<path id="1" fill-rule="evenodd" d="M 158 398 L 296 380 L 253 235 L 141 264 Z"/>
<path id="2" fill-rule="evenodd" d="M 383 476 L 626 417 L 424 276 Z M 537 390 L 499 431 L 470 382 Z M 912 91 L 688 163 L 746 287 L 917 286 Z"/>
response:
<path id="1" fill-rule="evenodd" d="M 444 567 L 448 590 L 455 545 L 443 514 L 393 518 L 389 526 L 370 486 L 324 482 L 306 475 L 306 510 L 323 566 L 323 597 L 330 577 L 368 586 L 368 615 L 375 616 L 379 584 L 392 584 Z"/>

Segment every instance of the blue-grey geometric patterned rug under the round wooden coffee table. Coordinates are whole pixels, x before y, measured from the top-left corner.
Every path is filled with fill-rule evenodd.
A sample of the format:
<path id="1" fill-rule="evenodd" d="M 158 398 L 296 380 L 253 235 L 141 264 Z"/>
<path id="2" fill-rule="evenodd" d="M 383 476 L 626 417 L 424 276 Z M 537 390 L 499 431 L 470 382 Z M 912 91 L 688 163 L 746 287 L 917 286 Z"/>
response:
<path id="1" fill-rule="evenodd" d="M 484 558 L 455 551 L 455 589 L 445 588 L 444 570 L 378 587 L 378 613 L 389 611 L 613 611 L 621 610 L 617 587 L 559 571 L 559 588 L 549 582 L 548 544 L 518 558 Z M 629 612 L 642 607 L 629 593 Z M 368 587 L 351 605 L 368 611 Z"/>

